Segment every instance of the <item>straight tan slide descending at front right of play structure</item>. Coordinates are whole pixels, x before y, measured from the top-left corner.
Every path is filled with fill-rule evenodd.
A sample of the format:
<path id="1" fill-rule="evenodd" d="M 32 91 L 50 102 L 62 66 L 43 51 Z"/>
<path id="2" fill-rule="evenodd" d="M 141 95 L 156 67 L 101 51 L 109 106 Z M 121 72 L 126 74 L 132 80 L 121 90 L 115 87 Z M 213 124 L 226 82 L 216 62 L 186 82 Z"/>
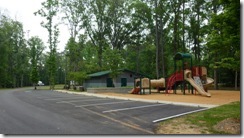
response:
<path id="1" fill-rule="evenodd" d="M 188 81 L 201 95 L 211 97 L 210 93 L 205 92 L 205 90 L 201 86 L 197 85 L 197 83 L 191 78 L 190 70 L 185 70 L 184 75 L 185 75 L 185 80 Z"/>

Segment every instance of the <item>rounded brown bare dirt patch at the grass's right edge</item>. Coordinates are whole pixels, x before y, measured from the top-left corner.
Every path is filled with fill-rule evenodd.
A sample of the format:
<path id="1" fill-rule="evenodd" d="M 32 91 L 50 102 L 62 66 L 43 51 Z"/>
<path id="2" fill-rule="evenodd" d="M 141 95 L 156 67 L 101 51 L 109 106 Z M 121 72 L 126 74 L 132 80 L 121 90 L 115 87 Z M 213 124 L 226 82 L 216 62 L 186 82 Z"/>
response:
<path id="1" fill-rule="evenodd" d="M 227 118 L 215 125 L 214 129 L 230 134 L 241 134 L 240 119 Z"/>

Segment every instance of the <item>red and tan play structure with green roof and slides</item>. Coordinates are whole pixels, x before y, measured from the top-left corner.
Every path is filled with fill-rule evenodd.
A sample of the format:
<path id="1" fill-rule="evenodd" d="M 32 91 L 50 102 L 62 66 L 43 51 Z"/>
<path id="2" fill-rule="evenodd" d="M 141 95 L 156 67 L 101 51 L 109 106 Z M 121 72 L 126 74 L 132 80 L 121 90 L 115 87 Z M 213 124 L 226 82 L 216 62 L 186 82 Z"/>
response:
<path id="1" fill-rule="evenodd" d="M 186 64 L 184 62 L 185 58 L 190 58 L 190 68 L 186 67 Z M 182 68 L 179 71 L 176 71 L 177 60 L 182 61 Z M 192 86 L 192 94 L 194 88 L 201 95 L 207 97 L 211 96 L 211 94 L 208 93 L 208 87 L 214 82 L 214 80 L 212 78 L 207 77 L 207 69 L 205 67 L 192 67 L 192 58 L 190 54 L 177 53 L 174 57 L 174 69 L 175 73 L 173 73 L 167 79 L 135 79 L 135 87 L 130 91 L 130 93 L 145 94 L 145 89 L 149 89 L 149 93 L 151 94 L 151 88 L 156 88 L 157 92 L 160 92 L 160 90 L 165 90 L 166 93 L 169 93 L 170 90 L 174 90 L 174 93 L 176 94 L 177 86 L 181 85 L 183 94 L 185 94 L 186 84 L 190 84 Z"/>

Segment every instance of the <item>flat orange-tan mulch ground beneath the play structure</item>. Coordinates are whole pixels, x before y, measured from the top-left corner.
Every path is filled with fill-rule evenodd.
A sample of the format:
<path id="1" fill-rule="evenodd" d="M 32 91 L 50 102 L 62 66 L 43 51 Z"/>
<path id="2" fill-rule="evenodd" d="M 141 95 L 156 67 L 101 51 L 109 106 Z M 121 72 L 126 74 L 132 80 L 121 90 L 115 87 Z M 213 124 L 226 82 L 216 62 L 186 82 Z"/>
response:
<path id="1" fill-rule="evenodd" d="M 140 94 L 121 94 L 121 93 L 99 93 L 109 96 L 119 96 L 126 98 L 138 98 L 147 100 L 160 100 L 169 102 L 184 102 L 184 103 L 196 103 L 196 104 L 209 104 L 209 105 L 223 105 L 235 101 L 240 101 L 240 91 L 229 90 L 209 90 L 211 97 L 202 96 L 198 93 L 188 93 L 185 95 L 182 92 L 177 91 L 177 94 L 165 94 L 165 93 L 152 93 L 146 95 Z"/>

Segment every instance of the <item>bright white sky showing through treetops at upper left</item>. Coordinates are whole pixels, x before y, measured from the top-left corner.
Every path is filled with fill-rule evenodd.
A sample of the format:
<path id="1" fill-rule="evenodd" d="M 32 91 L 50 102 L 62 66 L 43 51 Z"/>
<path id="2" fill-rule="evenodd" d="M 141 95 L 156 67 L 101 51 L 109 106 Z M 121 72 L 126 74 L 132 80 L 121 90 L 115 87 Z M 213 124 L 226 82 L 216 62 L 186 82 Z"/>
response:
<path id="1" fill-rule="evenodd" d="M 28 37 L 27 32 L 29 30 L 29 37 L 39 36 L 48 49 L 48 32 L 40 25 L 44 18 L 39 15 L 34 15 L 34 12 L 41 8 L 41 2 L 43 1 L 45 0 L 0 0 L 0 11 L 6 10 L 5 13 L 7 13 L 7 15 L 12 19 L 23 23 L 26 38 Z M 58 44 L 57 49 L 60 52 L 65 48 L 65 44 L 69 38 L 69 32 L 67 27 L 64 25 L 60 25 L 59 29 L 60 43 Z"/>

